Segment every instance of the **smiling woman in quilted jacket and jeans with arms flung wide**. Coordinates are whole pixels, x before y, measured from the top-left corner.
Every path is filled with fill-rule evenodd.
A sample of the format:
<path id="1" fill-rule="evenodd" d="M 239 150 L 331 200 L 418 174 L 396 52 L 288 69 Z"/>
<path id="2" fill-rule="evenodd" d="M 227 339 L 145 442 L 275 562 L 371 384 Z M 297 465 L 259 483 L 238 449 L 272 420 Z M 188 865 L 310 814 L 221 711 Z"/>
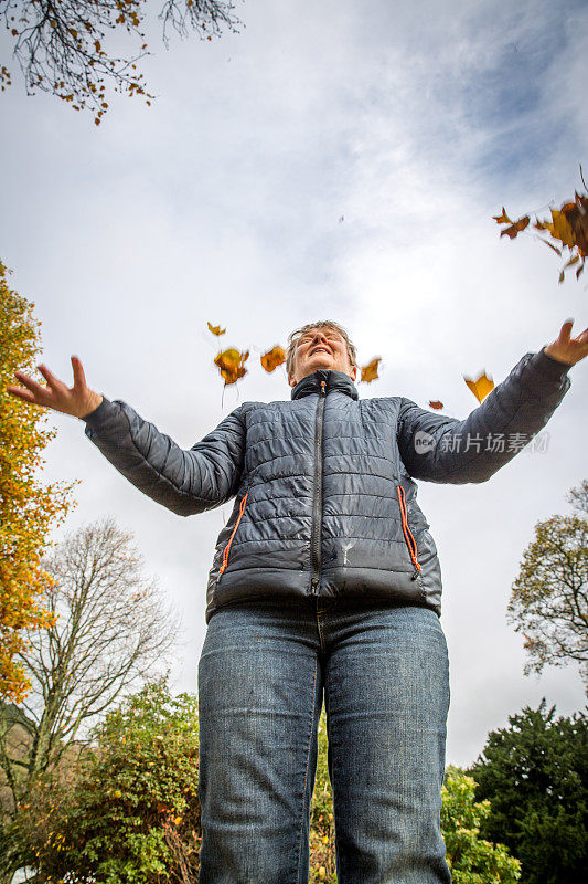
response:
<path id="1" fill-rule="evenodd" d="M 451 881 L 441 573 L 414 480 L 484 482 L 512 460 L 505 432 L 538 432 L 588 354 L 588 329 L 571 339 L 571 326 L 458 421 L 404 397 L 360 400 L 345 330 L 311 323 L 289 338 L 290 401 L 245 402 L 188 451 L 89 390 L 77 357 L 73 388 L 45 366 L 47 387 L 17 372 L 26 389 L 10 392 L 84 420 L 174 513 L 235 497 L 199 664 L 200 884 L 308 882 L 323 698 L 340 884 Z"/>

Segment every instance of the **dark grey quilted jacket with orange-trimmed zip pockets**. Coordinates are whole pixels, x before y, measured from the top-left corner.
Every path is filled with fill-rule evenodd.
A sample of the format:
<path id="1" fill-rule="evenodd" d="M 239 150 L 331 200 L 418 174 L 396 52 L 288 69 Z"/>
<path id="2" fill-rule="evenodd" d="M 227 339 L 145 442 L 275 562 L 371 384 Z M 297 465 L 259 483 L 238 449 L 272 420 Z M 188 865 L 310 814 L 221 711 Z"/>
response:
<path id="1" fill-rule="evenodd" d="M 400 396 L 360 399 L 319 369 L 290 401 L 244 402 L 190 450 L 104 397 L 85 433 L 143 494 L 180 516 L 235 498 L 209 575 L 221 607 L 343 596 L 441 614 L 441 570 L 414 480 L 485 482 L 549 420 L 569 366 L 528 352 L 463 421 Z M 522 435 L 517 435 L 522 434 Z M 516 442 L 518 441 L 518 444 Z"/>

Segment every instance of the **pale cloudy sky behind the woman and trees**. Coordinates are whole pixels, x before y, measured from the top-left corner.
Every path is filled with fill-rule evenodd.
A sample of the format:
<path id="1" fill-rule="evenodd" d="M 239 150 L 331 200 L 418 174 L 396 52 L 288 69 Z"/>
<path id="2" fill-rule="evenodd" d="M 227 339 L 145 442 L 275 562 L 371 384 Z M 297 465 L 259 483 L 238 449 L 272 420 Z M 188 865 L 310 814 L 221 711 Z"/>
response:
<path id="1" fill-rule="evenodd" d="M 42 360 L 190 448 L 242 401 L 289 399 L 282 368 L 256 357 L 307 322 L 332 318 L 361 364 L 360 397 L 406 396 L 466 418 L 463 375 L 498 383 L 568 317 L 588 326 L 587 285 L 532 235 L 491 215 L 560 204 L 588 168 L 588 4 L 582 0 L 247 0 L 240 33 L 161 42 L 143 65 L 157 99 L 115 95 L 103 125 L 58 99 L 26 97 L 17 66 L 0 96 L 2 261 L 35 304 Z M 0 41 L 3 63 L 10 54 Z M 585 176 L 586 177 L 586 176 Z M 340 220 L 343 218 L 343 220 Z M 249 349 L 227 388 L 206 320 Z M 468 765 L 488 732 L 546 697 L 586 702 L 576 666 L 523 675 L 506 622 L 536 522 L 570 514 L 586 477 L 588 360 L 547 425 L 489 482 L 419 483 L 443 576 L 451 672 L 447 760 Z M 40 379 L 40 378 L 38 378 Z M 84 434 L 51 414 L 46 481 L 82 480 L 66 530 L 111 514 L 146 572 L 181 611 L 175 691 L 196 691 L 205 587 L 231 512 L 183 519 L 141 495 Z"/>

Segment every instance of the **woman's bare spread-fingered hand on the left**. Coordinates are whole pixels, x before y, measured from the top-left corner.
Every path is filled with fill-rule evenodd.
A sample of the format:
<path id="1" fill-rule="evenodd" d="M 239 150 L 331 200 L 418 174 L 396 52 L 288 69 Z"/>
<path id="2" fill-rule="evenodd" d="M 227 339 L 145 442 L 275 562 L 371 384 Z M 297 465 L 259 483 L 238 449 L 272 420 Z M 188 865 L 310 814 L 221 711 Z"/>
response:
<path id="1" fill-rule="evenodd" d="M 86 386 L 86 378 L 82 362 L 77 356 L 72 356 L 72 368 L 74 370 L 74 386 L 67 387 L 63 381 L 52 375 L 49 368 L 41 364 L 36 366 L 45 378 L 47 386 L 36 383 L 24 371 L 15 371 L 14 377 L 24 385 L 22 387 L 7 387 L 9 393 L 31 402 L 33 406 L 52 408 L 63 414 L 73 414 L 75 418 L 85 418 L 90 411 L 98 408 L 103 401 L 100 393 L 94 392 Z"/>

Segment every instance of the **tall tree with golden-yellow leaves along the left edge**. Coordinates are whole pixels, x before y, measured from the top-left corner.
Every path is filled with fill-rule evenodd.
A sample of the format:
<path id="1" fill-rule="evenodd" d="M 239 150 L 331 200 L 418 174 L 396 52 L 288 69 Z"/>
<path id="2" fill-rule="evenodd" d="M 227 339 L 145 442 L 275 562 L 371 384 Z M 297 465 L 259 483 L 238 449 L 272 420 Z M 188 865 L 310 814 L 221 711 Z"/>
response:
<path id="1" fill-rule="evenodd" d="M 54 543 L 50 530 L 76 506 L 70 495 L 77 480 L 39 481 L 41 452 L 57 431 L 43 429 L 44 409 L 7 392 L 14 371 L 33 373 L 41 352 L 34 303 L 9 287 L 9 272 L 0 261 L 0 699 L 19 703 L 30 687 L 19 660 L 24 630 L 52 622 L 43 594 L 53 580 L 41 555 Z"/>

